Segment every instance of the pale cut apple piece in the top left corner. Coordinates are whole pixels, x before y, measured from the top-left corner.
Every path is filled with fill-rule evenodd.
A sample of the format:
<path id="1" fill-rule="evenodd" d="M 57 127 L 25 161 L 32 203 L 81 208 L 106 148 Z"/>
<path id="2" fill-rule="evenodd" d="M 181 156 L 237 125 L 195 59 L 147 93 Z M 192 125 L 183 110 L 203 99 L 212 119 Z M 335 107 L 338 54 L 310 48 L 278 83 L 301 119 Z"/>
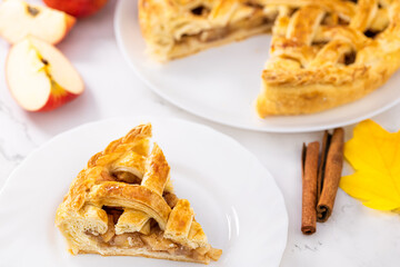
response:
<path id="1" fill-rule="evenodd" d="M 27 36 L 40 38 L 49 43 L 63 39 L 76 22 L 64 12 L 21 0 L 4 0 L 0 4 L 0 36 L 16 43 Z"/>

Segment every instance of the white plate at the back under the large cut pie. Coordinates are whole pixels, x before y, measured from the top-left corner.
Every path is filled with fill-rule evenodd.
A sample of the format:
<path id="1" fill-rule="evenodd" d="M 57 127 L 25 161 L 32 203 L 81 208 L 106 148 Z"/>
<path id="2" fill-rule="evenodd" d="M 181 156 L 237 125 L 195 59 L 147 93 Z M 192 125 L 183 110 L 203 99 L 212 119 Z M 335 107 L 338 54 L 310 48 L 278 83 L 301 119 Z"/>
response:
<path id="1" fill-rule="evenodd" d="M 370 118 L 400 100 L 400 73 L 396 73 L 387 85 L 359 101 L 316 115 L 260 119 L 253 102 L 269 57 L 270 36 L 159 65 L 144 55 L 137 13 L 137 1 L 120 0 L 114 17 L 118 44 L 134 72 L 176 106 L 223 125 L 259 131 L 316 131 Z"/>

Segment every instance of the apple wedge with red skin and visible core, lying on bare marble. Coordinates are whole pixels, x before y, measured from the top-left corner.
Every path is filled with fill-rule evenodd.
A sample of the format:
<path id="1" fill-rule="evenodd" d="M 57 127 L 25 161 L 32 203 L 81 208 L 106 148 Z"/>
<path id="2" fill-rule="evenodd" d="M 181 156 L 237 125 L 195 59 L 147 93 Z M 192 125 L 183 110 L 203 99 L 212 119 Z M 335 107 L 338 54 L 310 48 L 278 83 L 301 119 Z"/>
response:
<path id="1" fill-rule="evenodd" d="M 84 88 L 69 60 L 57 48 L 34 37 L 10 49 L 6 78 L 17 102 L 29 111 L 58 108 Z"/>

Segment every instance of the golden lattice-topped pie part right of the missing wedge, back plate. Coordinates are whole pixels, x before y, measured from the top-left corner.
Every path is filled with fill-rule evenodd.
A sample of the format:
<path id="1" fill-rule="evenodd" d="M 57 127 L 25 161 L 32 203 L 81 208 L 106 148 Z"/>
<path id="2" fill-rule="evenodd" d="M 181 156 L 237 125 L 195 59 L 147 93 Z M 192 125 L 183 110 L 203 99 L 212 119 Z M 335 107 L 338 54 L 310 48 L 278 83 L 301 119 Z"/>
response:
<path id="1" fill-rule="evenodd" d="M 266 2 L 284 8 L 262 72 L 257 105 L 262 117 L 317 112 L 353 101 L 399 68 L 399 1 Z"/>

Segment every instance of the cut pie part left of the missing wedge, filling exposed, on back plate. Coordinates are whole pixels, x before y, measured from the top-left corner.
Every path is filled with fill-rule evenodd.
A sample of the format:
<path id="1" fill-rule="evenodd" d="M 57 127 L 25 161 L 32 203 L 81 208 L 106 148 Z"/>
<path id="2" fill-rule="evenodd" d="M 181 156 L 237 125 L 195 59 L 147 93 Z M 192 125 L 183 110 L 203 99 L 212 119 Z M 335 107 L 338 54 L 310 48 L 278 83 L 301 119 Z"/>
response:
<path id="1" fill-rule="evenodd" d="M 159 61 L 267 32 L 277 14 L 243 0 L 140 0 L 138 9 L 148 51 Z"/>

